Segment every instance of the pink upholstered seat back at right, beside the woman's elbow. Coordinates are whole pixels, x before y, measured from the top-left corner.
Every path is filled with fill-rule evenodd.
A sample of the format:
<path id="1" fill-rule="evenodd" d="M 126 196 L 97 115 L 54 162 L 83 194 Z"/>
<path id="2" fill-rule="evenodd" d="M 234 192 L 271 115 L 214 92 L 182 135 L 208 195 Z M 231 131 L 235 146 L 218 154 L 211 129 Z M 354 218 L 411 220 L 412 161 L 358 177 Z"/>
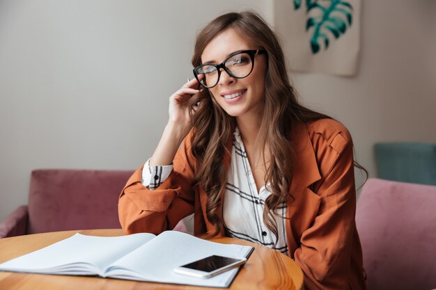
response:
<path id="1" fill-rule="evenodd" d="M 368 290 L 436 288 L 436 186 L 368 179 L 356 223 Z"/>

